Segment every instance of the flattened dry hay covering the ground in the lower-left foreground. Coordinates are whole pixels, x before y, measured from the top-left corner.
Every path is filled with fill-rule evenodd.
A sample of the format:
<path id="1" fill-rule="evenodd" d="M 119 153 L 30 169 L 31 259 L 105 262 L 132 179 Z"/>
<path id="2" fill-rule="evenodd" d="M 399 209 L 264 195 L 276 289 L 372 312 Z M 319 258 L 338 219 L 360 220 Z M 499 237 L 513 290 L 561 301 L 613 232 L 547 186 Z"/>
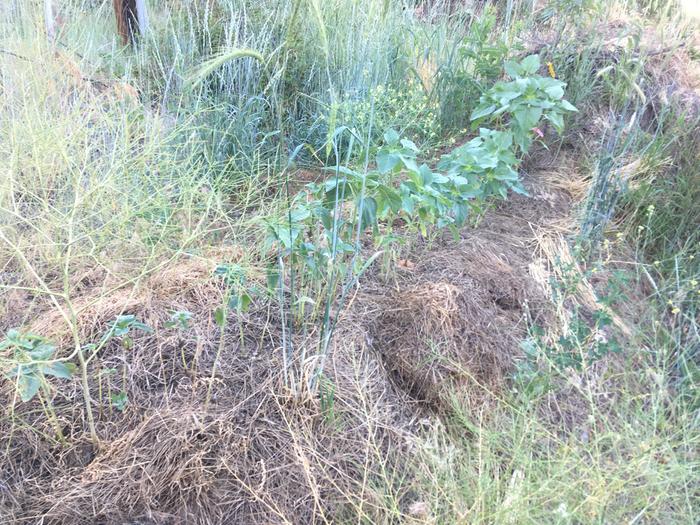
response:
<path id="1" fill-rule="evenodd" d="M 13 406 L 13 385 L 0 385 L 4 517 L 71 524 L 315 523 L 364 504 L 372 519 L 381 494 L 356 485 L 405 468 L 398 458 L 412 423 L 410 403 L 367 351 L 366 334 L 354 324 L 339 328 L 342 351 L 329 360 L 324 380 L 324 388 L 336 392 L 330 412 L 318 400 L 285 395 L 280 341 L 265 305 L 253 305 L 237 320 L 244 347 L 237 323 L 230 323 L 212 377 L 221 335 L 211 319 L 221 298 L 212 269 L 207 260 L 179 261 L 138 286 L 96 287 L 76 300 L 81 337 L 104 333 L 122 313 L 155 329 L 135 334 L 130 345 L 110 342 L 91 364 L 99 449 L 87 439 L 77 379 L 61 381 L 52 400 L 66 448 L 52 437 L 55 428 L 37 400 Z M 175 309 L 195 313 L 187 331 L 163 327 Z M 66 337 L 52 310 L 32 330 Z M 111 406 L 110 393 L 117 392 L 128 397 L 123 412 Z"/>

